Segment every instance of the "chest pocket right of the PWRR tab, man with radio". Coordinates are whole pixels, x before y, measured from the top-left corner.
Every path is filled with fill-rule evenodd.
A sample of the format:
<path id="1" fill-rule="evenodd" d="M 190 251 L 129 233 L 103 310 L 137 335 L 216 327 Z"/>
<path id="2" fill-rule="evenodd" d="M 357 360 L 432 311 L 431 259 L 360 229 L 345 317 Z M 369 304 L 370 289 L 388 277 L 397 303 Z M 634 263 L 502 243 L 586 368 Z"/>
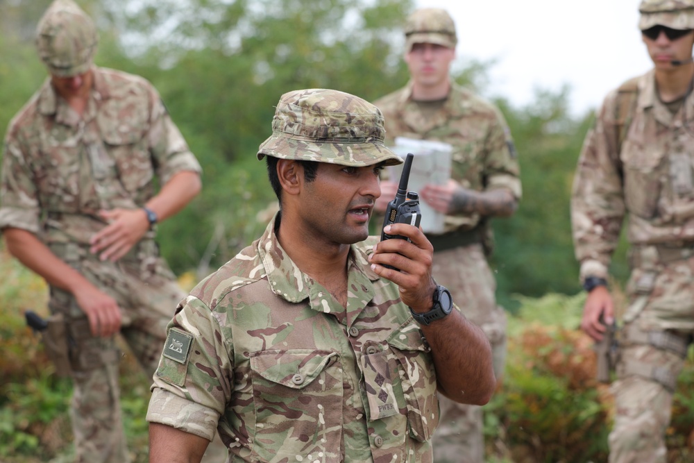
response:
<path id="1" fill-rule="evenodd" d="M 439 425 L 436 373 L 430 348 L 418 328 L 396 331 L 388 344 L 395 355 L 407 405 L 409 435 L 428 441 Z"/>

